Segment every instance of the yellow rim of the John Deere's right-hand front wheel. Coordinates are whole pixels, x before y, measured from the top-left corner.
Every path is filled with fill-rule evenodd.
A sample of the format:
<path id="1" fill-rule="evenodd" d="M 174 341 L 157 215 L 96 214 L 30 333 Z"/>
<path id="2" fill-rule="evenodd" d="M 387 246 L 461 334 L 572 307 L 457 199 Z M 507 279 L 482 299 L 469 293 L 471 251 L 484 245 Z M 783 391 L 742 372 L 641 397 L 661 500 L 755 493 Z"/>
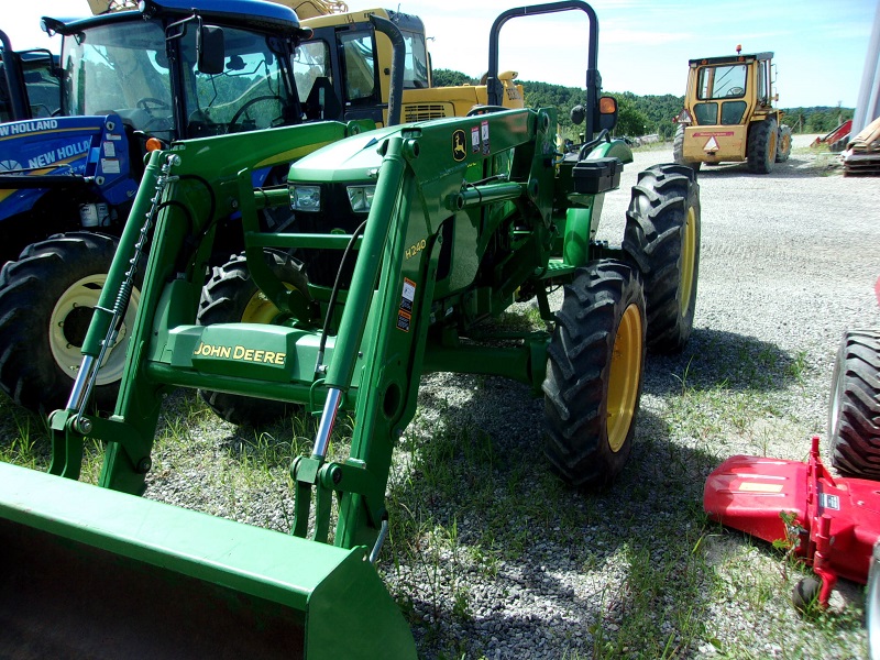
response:
<path id="1" fill-rule="evenodd" d="M 608 377 L 608 444 L 615 453 L 624 447 L 636 415 L 642 337 L 641 314 L 630 305 L 617 327 Z"/>

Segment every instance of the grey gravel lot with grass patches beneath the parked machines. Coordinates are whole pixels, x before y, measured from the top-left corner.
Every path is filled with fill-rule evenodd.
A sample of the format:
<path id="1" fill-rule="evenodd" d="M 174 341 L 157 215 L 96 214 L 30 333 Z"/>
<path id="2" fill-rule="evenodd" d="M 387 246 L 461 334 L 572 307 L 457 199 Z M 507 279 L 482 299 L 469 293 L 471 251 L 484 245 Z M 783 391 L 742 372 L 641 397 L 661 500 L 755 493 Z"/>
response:
<path id="1" fill-rule="evenodd" d="M 702 516 L 705 477 L 728 455 L 806 457 L 825 433 L 844 330 L 880 326 L 878 179 L 843 177 L 810 140 L 768 176 L 700 173 L 695 329 L 681 355 L 649 356 L 636 448 L 609 491 L 572 492 L 549 473 L 542 404 L 526 388 L 422 380 L 389 485 L 392 513 L 407 520 L 380 562 L 422 657 L 865 656 L 858 585 L 802 619 L 781 553 Z M 664 162 L 671 146 L 637 150 L 600 238 L 619 243 L 637 173 Z M 147 496 L 286 529 L 286 459 L 274 486 L 230 493 L 216 472 L 253 438 L 216 422 L 188 433 L 185 447 L 160 444 Z M 432 441 L 451 448 L 433 468 L 419 458 Z M 432 481 L 440 469 L 457 487 Z"/>

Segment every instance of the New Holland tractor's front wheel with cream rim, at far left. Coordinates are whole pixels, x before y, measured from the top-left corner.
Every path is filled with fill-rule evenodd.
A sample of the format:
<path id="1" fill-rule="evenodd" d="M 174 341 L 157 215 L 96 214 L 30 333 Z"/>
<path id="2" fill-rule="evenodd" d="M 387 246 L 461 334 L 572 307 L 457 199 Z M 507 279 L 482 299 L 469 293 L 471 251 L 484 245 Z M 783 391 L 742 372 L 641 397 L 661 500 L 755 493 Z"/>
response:
<path id="1" fill-rule="evenodd" d="M 66 406 L 117 245 L 113 237 L 98 233 L 56 234 L 29 245 L 0 271 L 0 387 L 16 404 L 41 414 Z M 140 297 L 135 286 L 98 371 L 92 402 L 100 410 L 116 404 Z"/>

